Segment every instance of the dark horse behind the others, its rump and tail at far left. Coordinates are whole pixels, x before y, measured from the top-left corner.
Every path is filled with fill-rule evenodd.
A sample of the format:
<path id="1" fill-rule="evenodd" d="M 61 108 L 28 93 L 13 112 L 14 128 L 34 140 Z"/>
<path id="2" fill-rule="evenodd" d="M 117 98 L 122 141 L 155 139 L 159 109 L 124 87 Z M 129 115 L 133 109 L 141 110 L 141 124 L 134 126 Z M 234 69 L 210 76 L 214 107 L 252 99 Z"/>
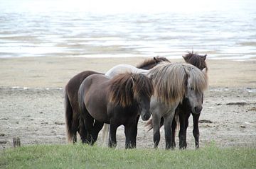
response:
<path id="1" fill-rule="evenodd" d="M 154 57 L 153 59 L 145 59 L 137 68 L 151 69 L 161 62 L 169 62 L 165 57 Z M 82 143 L 85 142 L 85 124 L 80 120 L 78 107 L 78 88 L 87 76 L 92 74 L 102 74 L 97 71 L 82 71 L 73 76 L 65 86 L 65 123 L 68 141 L 75 143 L 77 141 L 77 132 L 80 134 Z"/>

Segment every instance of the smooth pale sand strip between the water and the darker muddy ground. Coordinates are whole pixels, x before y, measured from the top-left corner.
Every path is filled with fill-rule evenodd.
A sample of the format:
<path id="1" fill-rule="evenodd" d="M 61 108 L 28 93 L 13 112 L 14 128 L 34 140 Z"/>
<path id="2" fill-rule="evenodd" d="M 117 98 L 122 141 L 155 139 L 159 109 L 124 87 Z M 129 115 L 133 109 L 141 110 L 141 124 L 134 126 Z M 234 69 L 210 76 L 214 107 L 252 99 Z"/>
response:
<path id="1" fill-rule="evenodd" d="M 63 88 L 81 71 L 102 73 L 117 64 L 137 64 L 151 57 L 80 58 L 80 57 L 20 57 L 0 58 L 1 87 Z M 171 62 L 184 62 L 170 59 Z M 210 87 L 256 86 L 256 60 L 232 61 L 206 59 Z"/>

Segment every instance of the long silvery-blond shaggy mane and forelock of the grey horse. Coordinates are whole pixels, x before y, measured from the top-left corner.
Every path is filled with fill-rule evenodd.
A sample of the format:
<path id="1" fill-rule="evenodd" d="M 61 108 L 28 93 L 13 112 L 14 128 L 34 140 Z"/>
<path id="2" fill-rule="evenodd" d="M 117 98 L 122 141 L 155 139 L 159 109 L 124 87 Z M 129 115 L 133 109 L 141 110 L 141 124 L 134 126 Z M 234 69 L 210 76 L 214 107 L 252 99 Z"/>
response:
<path id="1" fill-rule="evenodd" d="M 149 76 L 154 81 L 156 98 L 166 105 L 181 102 L 187 86 L 197 91 L 208 86 L 206 74 L 191 64 L 159 64 L 149 71 Z"/>

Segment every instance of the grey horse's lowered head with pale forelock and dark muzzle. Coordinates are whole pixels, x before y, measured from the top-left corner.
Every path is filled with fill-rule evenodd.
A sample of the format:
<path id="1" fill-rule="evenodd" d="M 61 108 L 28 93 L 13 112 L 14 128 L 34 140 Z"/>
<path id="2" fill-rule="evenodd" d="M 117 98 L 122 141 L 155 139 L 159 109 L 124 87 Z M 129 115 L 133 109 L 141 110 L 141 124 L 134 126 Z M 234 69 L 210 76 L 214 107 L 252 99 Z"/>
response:
<path id="1" fill-rule="evenodd" d="M 189 69 L 186 69 L 188 79 L 185 99 L 188 100 L 191 112 L 194 114 L 201 113 L 203 109 L 203 91 L 208 86 L 208 78 L 205 71 L 206 69 L 201 71 L 192 65 Z"/>

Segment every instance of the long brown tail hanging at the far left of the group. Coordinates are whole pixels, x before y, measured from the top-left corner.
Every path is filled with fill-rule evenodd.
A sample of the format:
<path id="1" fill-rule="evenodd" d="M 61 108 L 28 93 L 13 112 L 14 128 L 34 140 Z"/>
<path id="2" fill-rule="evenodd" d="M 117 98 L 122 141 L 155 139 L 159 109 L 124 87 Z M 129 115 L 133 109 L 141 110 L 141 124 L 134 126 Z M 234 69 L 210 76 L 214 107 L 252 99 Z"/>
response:
<path id="1" fill-rule="evenodd" d="M 66 121 L 68 141 L 70 142 L 72 141 L 72 136 L 73 136 L 73 130 L 72 130 L 73 109 L 71 107 L 67 91 L 65 91 L 65 121 Z"/>

